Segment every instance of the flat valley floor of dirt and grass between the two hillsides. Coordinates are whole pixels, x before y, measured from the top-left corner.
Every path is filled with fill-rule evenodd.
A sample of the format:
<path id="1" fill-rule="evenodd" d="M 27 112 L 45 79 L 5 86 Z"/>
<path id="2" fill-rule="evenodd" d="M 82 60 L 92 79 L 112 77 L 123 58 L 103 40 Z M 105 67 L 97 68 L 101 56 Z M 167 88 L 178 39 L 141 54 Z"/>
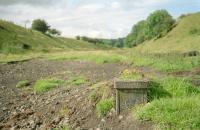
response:
<path id="1" fill-rule="evenodd" d="M 61 118 L 59 124 L 63 124 L 61 122 L 70 117 L 67 126 L 72 128 L 77 126 L 95 128 L 97 127 L 95 124 L 101 123 L 102 128 L 120 129 L 125 122 L 134 123 L 134 126 L 129 126 L 130 128 L 140 129 L 153 128 L 155 127 L 154 123 L 160 129 L 199 128 L 200 119 L 199 116 L 195 115 L 200 111 L 198 106 L 200 90 L 192 84 L 192 80 L 198 79 L 200 76 L 199 56 L 157 57 L 139 55 L 132 53 L 131 49 L 124 49 L 38 53 L 36 55 L 30 53 L 23 60 L 21 55 L 2 55 L 2 57 L 4 58 L 1 58 L 3 63 L 1 65 L 1 86 L 12 86 L 12 89 L 19 92 L 17 96 L 22 99 L 18 104 L 15 104 L 18 106 L 17 110 L 21 110 L 22 108 L 19 106 L 24 104 L 22 106 L 27 107 L 23 109 L 24 111 L 33 110 L 35 114 L 38 114 L 42 109 L 46 110 L 47 106 L 58 102 L 55 110 L 49 108 L 49 111 L 54 111 L 52 115 L 45 115 L 46 118 L 41 117 L 41 120 L 48 120 L 47 122 L 51 125 L 53 125 L 51 120 L 54 118 Z M 130 117 L 132 112 L 126 113 L 124 121 L 114 127 L 119 119 L 115 117 L 113 110 L 115 98 L 112 88 L 113 78 L 124 77 L 134 80 L 142 76 L 155 82 L 149 97 L 151 101 L 139 110 L 133 108 L 132 112 L 137 114 Z M 10 79 L 13 79 L 12 82 Z M 25 82 L 23 86 L 23 81 L 27 81 L 29 84 Z M 22 87 L 17 88 L 17 84 L 22 84 Z M 2 92 L 11 93 L 12 89 L 9 89 L 2 89 Z M 38 94 L 32 95 L 35 92 Z M 11 98 L 10 94 L 6 95 L 4 97 Z M 24 96 L 25 99 L 30 98 L 31 102 L 24 101 L 21 96 Z M 36 100 L 38 98 L 40 100 Z M 63 102 L 60 102 L 61 98 L 64 98 Z M 76 103 L 70 103 L 71 100 L 76 100 Z M 80 105 L 84 105 L 84 102 L 88 101 L 90 103 L 85 106 L 85 109 L 91 111 L 81 110 Z M 34 102 L 37 102 L 36 106 L 30 105 Z M 41 103 L 48 105 L 40 108 L 39 104 Z M 62 110 L 62 107 L 67 110 Z M 59 111 L 62 111 L 62 116 L 59 115 Z M 163 114 L 157 115 L 158 111 Z M 70 114 L 71 112 L 72 114 Z M 80 115 L 79 112 L 84 114 Z M 95 113 L 97 117 L 92 115 L 85 117 L 87 112 L 89 115 Z M 2 114 L 1 119 L 5 119 L 8 115 Z M 183 115 L 186 116 L 183 118 Z M 51 118 L 47 119 L 47 117 Z M 21 115 L 18 118 L 22 118 Z M 16 122 L 18 118 L 8 120 L 7 123 Z M 26 118 L 32 119 L 31 117 Z M 80 124 L 76 123 L 75 118 L 80 119 Z M 93 120 L 94 118 L 98 120 Z M 116 120 L 110 118 L 116 118 Z M 106 122 L 101 122 L 102 119 Z M 143 120 L 142 124 L 138 120 Z M 51 127 L 63 127 L 59 124 L 54 124 Z M 25 124 L 19 123 L 18 125 L 22 127 Z"/>

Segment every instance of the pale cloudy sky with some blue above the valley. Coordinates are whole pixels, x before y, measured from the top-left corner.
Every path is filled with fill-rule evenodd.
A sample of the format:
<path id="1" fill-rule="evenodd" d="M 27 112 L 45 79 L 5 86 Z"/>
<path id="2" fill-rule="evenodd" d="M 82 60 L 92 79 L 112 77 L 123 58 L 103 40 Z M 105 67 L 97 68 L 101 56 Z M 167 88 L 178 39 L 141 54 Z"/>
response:
<path id="1" fill-rule="evenodd" d="M 155 10 L 174 18 L 200 11 L 200 0 L 0 0 L 0 19 L 27 27 L 44 19 L 63 36 L 125 37 Z"/>

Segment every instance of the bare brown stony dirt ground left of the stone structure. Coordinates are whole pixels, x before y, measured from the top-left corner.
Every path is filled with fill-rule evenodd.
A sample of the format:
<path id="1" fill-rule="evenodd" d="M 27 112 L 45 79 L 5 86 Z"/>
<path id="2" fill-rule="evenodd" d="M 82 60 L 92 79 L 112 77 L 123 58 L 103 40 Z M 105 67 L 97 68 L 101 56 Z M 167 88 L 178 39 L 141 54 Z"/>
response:
<path id="1" fill-rule="evenodd" d="M 77 130 L 152 129 L 151 123 L 135 120 L 130 112 L 116 116 L 113 109 L 108 116 L 100 118 L 95 106 L 88 100 L 91 84 L 112 81 L 128 67 L 119 63 L 44 59 L 0 64 L 0 129 L 45 130 L 66 124 Z M 63 85 L 40 95 L 16 88 L 21 80 L 30 81 L 32 87 L 40 78 L 58 77 L 67 80 L 79 75 L 86 76 L 89 82 L 76 87 Z"/>

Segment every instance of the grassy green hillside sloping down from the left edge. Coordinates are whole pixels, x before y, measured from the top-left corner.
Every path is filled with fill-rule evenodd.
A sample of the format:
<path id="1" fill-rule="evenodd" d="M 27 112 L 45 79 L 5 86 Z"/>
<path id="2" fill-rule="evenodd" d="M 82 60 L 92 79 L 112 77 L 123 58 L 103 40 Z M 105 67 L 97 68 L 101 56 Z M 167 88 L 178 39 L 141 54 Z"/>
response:
<path id="1" fill-rule="evenodd" d="M 0 20 L 0 53 L 90 50 L 105 47 L 70 38 L 55 38 Z"/>

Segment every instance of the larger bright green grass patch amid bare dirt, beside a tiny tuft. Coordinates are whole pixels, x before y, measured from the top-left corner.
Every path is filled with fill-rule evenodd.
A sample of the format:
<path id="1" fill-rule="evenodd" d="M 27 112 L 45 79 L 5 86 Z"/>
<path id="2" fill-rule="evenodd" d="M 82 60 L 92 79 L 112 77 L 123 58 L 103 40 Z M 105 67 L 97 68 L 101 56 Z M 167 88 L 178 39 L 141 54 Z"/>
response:
<path id="1" fill-rule="evenodd" d="M 40 79 L 35 83 L 35 85 L 33 86 L 33 89 L 36 93 L 44 93 L 51 89 L 59 87 L 64 82 L 65 81 L 61 79 L 56 79 L 56 78 Z"/>

